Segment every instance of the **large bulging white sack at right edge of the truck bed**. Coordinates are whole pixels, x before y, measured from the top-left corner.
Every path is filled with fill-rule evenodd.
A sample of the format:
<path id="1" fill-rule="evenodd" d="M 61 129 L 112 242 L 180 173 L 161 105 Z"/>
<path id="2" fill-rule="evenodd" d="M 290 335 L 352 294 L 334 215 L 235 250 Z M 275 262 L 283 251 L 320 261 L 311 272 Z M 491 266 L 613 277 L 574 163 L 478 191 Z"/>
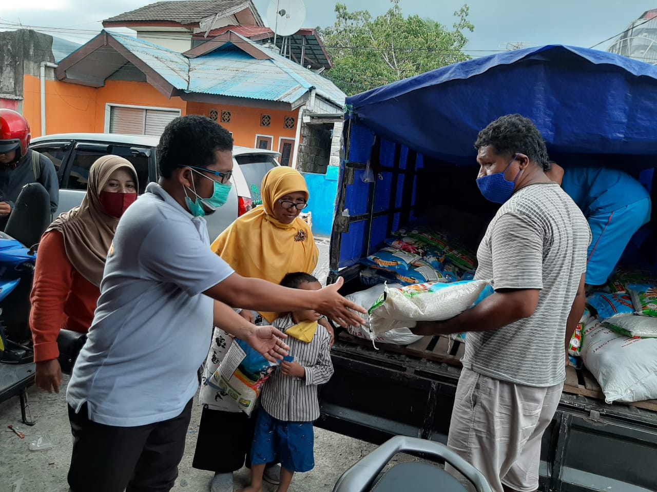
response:
<path id="1" fill-rule="evenodd" d="M 607 403 L 657 398 L 657 338 L 625 337 L 594 320 L 584 330 L 581 357 Z"/>

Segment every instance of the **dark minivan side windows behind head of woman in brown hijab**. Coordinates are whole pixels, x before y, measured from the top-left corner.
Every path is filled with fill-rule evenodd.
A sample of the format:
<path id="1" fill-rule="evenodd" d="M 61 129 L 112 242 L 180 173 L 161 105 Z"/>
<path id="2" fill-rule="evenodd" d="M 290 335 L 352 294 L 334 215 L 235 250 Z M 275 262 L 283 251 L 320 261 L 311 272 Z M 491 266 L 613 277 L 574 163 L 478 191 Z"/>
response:
<path id="1" fill-rule="evenodd" d="M 129 146 L 99 144 L 78 144 L 68 173 L 68 179 L 62 188 L 68 190 L 86 190 L 91 165 L 103 155 L 114 154 L 124 157 L 132 163 L 139 179 L 139 193 L 142 194 L 148 184 L 148 157 L 135 154 Z"/>

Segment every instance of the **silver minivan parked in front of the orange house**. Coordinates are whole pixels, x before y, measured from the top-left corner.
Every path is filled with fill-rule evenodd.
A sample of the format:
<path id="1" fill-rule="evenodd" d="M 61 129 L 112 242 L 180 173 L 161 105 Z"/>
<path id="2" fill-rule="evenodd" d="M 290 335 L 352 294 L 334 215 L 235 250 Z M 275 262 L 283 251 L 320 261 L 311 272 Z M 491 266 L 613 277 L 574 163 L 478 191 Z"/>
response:
<path id="1" fill-rule="evenodd" d="M 114 154 L 128 159 L 137 170 L 139 193 L 150 181 L 158 180 L 157 136 L 116 133 L 62 133 L 34 138 L 30 148 L 47 155 L 57 169 L 59 207 L 57 215 L 78 206 L 87 191 L 89 167 L 102 155 Z M 238 216 L 262 203 L 260 187 L 269 169 L 279 165 L 281 154 L 235 146 L 233 148 L 233 187 L 228 201 L 206 217 L 210 240 Z"/>

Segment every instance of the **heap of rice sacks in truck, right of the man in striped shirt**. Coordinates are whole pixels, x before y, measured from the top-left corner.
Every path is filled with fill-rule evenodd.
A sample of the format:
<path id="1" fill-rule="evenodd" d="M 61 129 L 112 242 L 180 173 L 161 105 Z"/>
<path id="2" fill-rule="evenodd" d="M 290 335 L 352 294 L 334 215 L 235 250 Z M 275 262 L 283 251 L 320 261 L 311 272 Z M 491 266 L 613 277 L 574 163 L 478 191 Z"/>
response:
<path id="1" fill-rule="evenodd" d="M 656 399 L 657 278 L 619 271 L 605 290 L 587 297 L 590 316 L 583 317 L 576 355 L 607 403 Z M 571 347 L 577 344 L 571 340 Z"/>

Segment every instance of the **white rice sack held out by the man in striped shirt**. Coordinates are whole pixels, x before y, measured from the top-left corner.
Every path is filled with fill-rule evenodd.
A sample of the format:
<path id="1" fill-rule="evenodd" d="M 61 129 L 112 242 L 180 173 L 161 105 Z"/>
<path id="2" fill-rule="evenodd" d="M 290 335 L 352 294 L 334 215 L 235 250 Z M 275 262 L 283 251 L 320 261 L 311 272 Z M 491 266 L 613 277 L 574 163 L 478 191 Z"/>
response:
<path id="1" fill-rule="evenodd" d="M 417 321 L 453 318 L 493 293 L 485 280 L 455 283 L 419 283 L 407 287 L 384 287 L 384 294 L 369 310 L 370 327 L 376 335 Z"/>

